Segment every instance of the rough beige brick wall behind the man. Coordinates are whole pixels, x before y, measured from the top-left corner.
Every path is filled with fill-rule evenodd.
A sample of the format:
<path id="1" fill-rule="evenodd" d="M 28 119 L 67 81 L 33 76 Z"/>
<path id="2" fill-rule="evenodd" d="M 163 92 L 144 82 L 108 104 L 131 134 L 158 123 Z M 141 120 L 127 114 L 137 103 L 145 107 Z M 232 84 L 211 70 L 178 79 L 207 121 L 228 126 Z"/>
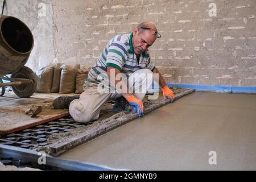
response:
<path id="1" fill-rule="evenodd" d="M 93 65 L 110 38 L 150 21 L 162 34 L 151 59 L 166 81 L 256 86 L 255 0 L 53 0 L 52 6 L 59 61 Z"/>

